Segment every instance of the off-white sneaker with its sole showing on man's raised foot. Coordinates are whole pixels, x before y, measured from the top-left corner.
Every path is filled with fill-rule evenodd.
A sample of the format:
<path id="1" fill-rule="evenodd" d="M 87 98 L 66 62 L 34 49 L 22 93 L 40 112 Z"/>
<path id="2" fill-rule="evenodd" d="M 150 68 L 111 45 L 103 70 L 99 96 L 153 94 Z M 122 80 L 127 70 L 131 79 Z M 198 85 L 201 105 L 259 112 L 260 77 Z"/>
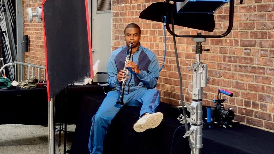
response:
<path id="1" fill-rule="evenodd" d="M 146 113 L 134 124 L 133 129 L 139 133 L 149 128 L 155 128 L 161 123 L 162 119 L 163 114 L 161 112 Z"/>

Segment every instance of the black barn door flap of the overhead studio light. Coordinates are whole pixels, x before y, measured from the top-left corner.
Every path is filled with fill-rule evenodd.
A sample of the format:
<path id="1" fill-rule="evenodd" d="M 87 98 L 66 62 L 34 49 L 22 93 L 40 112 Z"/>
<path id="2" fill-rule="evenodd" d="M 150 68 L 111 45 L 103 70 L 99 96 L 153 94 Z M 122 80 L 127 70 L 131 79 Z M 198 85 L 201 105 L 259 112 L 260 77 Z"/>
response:
<path id="1" fill-rule="evenodd" d="M 213 14 L 207 13 L 177 13 L 176 5 L 169 4 L 169 17 L 168 23 L 172 23 L 171 14 L 174 17 L 174 25 L 188 27 L 193 29 L 199 29 L 202 31 L 212 32 L 215 29 L 215 21 Z M 172 9 L 174 8 L 174 9 Z M 173 10 L 173 11 L 172 11 Z M 157 21 L 164 23 L 163 17 L 166 15 L 166 3 L 157 2 L 152 3 L 146 9 L 144 9 L 139 18 Z"/>

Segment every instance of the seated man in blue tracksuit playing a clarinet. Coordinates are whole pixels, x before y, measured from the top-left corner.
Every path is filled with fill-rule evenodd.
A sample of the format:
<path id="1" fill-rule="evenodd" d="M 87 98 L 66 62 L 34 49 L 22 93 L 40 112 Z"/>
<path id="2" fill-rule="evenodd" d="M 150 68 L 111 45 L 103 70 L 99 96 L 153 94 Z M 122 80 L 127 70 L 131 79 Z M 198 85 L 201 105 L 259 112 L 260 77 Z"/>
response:
<path id="1" fill-rule="evenodd" d="M 90 130 L 89 150 L 91 154 L 102 154 L 103 142 L 111 121 L 123 105 L 116 102 L 121 95 L 124 85 L 123 104 L 129 106 L 141 106 L 139 120 L 134 124 L 136 132 L 143 132 L 149 128 L 157 127 L 163 114 L 156 112 L 160 94 L 154 89 L 159 77 L 159 64 L 156 55 L 140 44 L 141 29 L 138 25 L 131 23 L 124 30 L 126 46 L 114 50 L 108 60 L 108 84 L 115 88 L 108 92 L 102 105 L 95 116 L 92 117 Z M 132 44 L 132 47 L 130 47 Z M 126 57 L 130 60 L 126 62 Z M 126 64 L 125 64 L 126 62 Z M 128 76 L 124 77 L 127 68 Z M 122 84 L 123 81 L 125 84 Z"/>

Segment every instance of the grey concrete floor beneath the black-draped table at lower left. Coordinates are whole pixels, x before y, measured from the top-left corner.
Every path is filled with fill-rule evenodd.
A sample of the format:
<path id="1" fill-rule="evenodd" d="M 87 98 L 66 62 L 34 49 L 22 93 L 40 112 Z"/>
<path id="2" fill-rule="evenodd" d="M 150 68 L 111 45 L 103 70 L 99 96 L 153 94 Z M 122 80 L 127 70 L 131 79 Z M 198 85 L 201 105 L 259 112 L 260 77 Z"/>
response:
<path id="1" fill-rule="evenodd" d="M 73 132 L 75 126 L 67 125 L 67 131 Z M 0 154 L 48 154 L 48 132 L 48 127 L 39 125 L 0 125 Z M 56 146 L 56 154 L 64 153 L 64 133 L 61 139 L 61 146 Z M 68 133 L 67 150 L 71 142 L 72 134 Z"/>

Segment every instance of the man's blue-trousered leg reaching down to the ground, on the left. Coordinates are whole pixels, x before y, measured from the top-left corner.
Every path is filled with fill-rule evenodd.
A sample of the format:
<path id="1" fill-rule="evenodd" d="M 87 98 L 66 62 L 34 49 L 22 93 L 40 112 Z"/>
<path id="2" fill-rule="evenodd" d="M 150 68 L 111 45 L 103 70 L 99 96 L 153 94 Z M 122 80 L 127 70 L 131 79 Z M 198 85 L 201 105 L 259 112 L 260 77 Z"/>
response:
<path id="1" fill-rule="evenodd" d="M 104 137 L 112 119 L 120 110 L 116 107 L 120 93 L 117 91 L 108 92 L 108 95 L 102 102 L 95 116 L 92 117 L 92 126 L 90 129 L 90 139 L 88 148 L 91 154 L 102 154 Z"/>

